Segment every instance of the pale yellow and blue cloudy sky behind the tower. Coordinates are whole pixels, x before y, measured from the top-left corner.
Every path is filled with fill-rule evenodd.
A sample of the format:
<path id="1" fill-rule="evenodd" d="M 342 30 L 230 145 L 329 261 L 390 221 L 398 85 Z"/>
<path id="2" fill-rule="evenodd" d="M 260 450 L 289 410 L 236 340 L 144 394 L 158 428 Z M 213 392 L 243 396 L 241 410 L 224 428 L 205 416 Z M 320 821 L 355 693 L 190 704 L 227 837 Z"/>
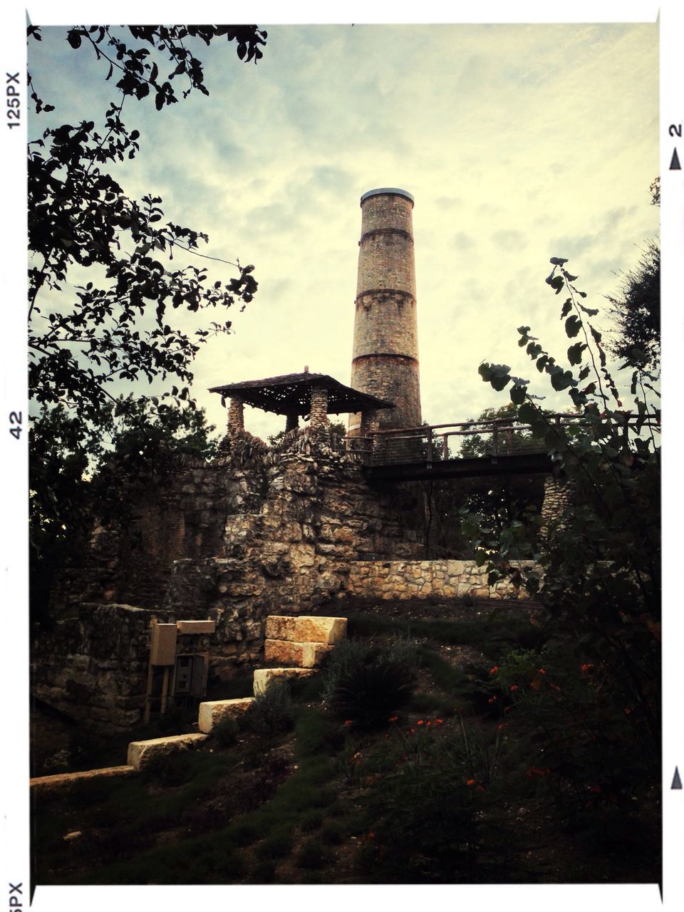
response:
<path id="1" fill-rule="evenodd" d="M 193 392 L 220 427 L 213 385 L 305 365 L 349 382 L 367 190 L 401 187 L 416 200 L 430 423 L 507 401 L 479 378 L 482 359 L 531 377 L 516 326 L 564 357 L 561 301 L 544 285 L 550 256 L 568 257 L 587 303 L 603 306 L 658 236 L 648 192 L 658 174 L 655 23 L 259 25 L 268 41 L 257 66 L 228 44 L 195 49 L 208 98 L 195 92 L 161 112 L 151 99 L 127 101 L 141 150 L 116 169 L 131 196 L 153 192 L 171 221 L 208 233 L 206 254 L 255 265 L 254 302 L 195 361 Z M 55 122 L 96 118 L 112 83 L 65 36 L 46 27 L 29 45 L 36 88 L 56 104 Z M 47 122 L 31 119 L 29 139 Z M 210 275 L 230 269 L 211 264 Z M 565 408 L 536 371 L 534 386 Z M 262 436 L 284 425 L 251 409 L 245 420 Z"/>

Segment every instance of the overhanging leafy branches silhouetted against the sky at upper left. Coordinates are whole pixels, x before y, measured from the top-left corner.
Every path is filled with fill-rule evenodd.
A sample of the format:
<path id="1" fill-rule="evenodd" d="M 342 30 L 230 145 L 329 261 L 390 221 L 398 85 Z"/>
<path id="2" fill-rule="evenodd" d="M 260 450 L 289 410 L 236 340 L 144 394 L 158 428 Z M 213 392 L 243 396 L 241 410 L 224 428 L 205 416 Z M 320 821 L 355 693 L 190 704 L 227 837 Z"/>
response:
<path id="1" fill-rule="evenodd" d="M 140 149 L 138 130 L 128 130 L 121 119 L 127 98 L 153 96 L 162 109 L 178 101 L 171 85 L 178 78 L 189 84 L 183 97 L 193 88 L 209 94 L 202 65 L 185 41 L 197 38 L 209 45 L 225 36 L 237 42 L 239 57 L 255 61 L 265 33 L 256 26 L 130 26 L 128 31 L 131 46 L 108 27 L 68 30 L 69 46 L 90 49 L 109 67 L 107 79 L 117 72 L 119 98 L 109 103 L 102 127 L 94 120 L 63 124 L 29 143 L 29 393 L 39 405 L 61 404 L 79 420 L 96 424 L 115 399 L 109 389 L 114 381 L 192 379 L 192 358 L 210 330 L 189 337 L 172 328 L 170 307 L 196 312 L 244 305 L 256 290 L 252 265 L 234 264 L 237 275 L 212 287 L 205 285 L 203 267 L 170 265 L 174 251 L 196 254 L 206 235 L 162 223 L 161 197 L 132 200 L 103 168 L 134 158 Z M 28 34 L 41 40 L 36 26 Z M 164 57 L 174 68 L 162 80 L 160 67 L 169 66 Z M 54 109 L 38 97 L 30 75 L 29 86 L 36 113 Z M 65 300 L 64 285 L 75 266 L 77 281 L 88 269 L 93 280 L 76 285 L 74 299 Z M 63 296 L 44 303 L 47 291 Z M 212 322 L 211 333 L 229 328 L 230 322 Z M 188 398 L 175 387 L 171 395 Z"/>

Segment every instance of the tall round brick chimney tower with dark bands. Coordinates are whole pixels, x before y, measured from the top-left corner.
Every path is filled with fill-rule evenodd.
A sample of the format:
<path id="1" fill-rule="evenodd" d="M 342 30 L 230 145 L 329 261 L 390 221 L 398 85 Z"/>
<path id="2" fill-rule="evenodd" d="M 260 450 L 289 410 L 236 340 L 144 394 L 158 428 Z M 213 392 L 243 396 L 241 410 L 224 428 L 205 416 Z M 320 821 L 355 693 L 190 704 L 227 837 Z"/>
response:
<path id="1" fill-rule="evenodd" d="M 411 194 L 396 187 L 361 197 L 351 386 L 394 402 L 373 420 L 379 430 L 421 420 L 412 210 Z M 349 416 L 349 436 L 367 430 L 360 414 Z"/>

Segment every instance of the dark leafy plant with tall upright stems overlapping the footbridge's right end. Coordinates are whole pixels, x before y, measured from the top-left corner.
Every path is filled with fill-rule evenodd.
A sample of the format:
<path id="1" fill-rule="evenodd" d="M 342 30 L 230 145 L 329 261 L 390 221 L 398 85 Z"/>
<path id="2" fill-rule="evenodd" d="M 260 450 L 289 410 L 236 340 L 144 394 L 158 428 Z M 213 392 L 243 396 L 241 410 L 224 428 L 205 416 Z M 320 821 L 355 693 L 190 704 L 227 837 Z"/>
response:
<path id="1" fill-rule="evenodd" d="M 542 536 L 531 535 L 525 523 L 488 528 L 472 513 L 466 524 L 491 582 L 509 572 L 513 548 L 534 558 L 541 573 L 516 570 L 518 581 L 548 609 L 578 662 L 603 669 L 635 731 L 657 750 L 660 413 L 649 406 L 658 398 L 656 378 L 644 366 L 619 368 L 629 371 L 627 408 L 592 322 L 598 311 L 586 305 L 586 292 L 566 263 L 553 257 L 546 278 L 554 294 L 563 295 L 566 359 L 544 349 L 530 326 L 518 327 L 518 345 L 554 390 L 567 392 L 577 419 L 550 421 L 530 381 L 513 377 L 507 365 L 483 362 L 479 372 L 493 389 L 509 389 L 521 420 L 544 440 L 554 474 L 567 482 L 571 505 Z M 541 517 L 536 525 L 542 526 Z"/>

